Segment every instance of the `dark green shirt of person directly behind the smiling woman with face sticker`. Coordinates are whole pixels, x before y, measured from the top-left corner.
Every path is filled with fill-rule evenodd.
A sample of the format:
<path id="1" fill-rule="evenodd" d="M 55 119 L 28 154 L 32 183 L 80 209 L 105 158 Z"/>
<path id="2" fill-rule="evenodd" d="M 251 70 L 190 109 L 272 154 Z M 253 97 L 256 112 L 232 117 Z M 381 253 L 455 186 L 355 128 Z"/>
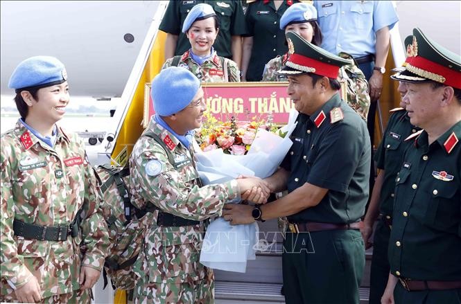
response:
<path id="1" fill-rule="evenodd" d="M 240 0 L 222 0 L 222 1 L 170 1 L 168 8 L 159 26 L 159 30 L 177 37 L 175 55 L 182 55 L 191 48 L 189 39 L 182 33 L 182 24 L 187 14 L 198 3 L 208 3 L 213 6 L 214 11 L 219 19 L 219 33 L 214 42 L 214 50 L 219 56 L 232 59 L 232 36 L 244 35 L 247 33 L 245 28 L 245 15 L 243 15 L 242 3 Z M 266 62 L 265 62 L 266 63 Z"/>

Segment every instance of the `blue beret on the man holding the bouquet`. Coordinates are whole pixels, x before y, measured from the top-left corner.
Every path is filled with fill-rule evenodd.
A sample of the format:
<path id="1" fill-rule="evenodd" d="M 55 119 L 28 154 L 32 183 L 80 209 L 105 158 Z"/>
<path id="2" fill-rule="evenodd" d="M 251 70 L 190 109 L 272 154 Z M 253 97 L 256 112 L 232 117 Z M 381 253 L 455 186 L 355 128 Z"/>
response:
<path id="1" fill-rule="evenodd" d="M 155 113 L 160 116 L 173 115 L 191 103 L 200 89 L 200 80 L 188 69 L 170 66 L 163 69 L 152 81 L 150 96 Z"/>

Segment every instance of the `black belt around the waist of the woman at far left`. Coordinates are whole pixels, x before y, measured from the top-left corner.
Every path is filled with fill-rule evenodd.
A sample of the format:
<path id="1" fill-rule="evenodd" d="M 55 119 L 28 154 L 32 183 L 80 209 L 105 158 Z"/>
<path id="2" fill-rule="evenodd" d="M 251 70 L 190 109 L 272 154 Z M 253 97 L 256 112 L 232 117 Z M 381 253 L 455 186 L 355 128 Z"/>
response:
<path id="1" fill-rule="evenodd" d="M 80 217 L 80 214 L 77 216 Z M 21 236 L 26 240 L 65 241 L 69 235 L 72 238 L 78 235 L 79 225 L 73 222 L 67 226 L 40 226 L 27 224 L 15 219 L 12 223 L 12 229 L 15 231 L 15 235 Z"/>

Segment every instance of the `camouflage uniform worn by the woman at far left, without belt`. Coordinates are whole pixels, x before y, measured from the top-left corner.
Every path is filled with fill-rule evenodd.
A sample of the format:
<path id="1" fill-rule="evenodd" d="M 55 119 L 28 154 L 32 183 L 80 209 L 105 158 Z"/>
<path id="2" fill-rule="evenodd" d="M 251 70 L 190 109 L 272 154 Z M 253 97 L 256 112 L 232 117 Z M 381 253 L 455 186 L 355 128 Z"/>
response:
<path id="1" fill-rule="evenodd" d="M 53 148 L 20 121 L 1 136 L 1 301 L 17 301 L 12 287 L 23 286 L 33 274 L 45 303 L 89 303 L 88 290 L 76 292 L 80 267 L 103 268 L 109 244 L 98 211 L 101 190 L 85 145 L 76 135 L 57 129 Z M 40 226 L 69 225 L 80 208 L 76 238 L 41 241 L 14 235 L 15 219 Z"/>

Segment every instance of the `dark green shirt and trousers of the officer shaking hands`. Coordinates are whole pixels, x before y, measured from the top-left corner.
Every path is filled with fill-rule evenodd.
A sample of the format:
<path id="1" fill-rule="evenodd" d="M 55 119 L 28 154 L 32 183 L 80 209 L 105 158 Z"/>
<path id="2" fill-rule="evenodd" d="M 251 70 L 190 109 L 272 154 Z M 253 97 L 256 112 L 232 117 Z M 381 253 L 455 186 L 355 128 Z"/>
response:
<path id="1" fill-rule="evenodd" d="M 342 114 L 342 115 L 341 115 Z M 342 116 L 342 118 L 341 118 Z M 365 212 L 369 136 L 363 119 L 336 93 L 312 116 L 299 114 L 282 163 L 288 192 L 304 183 L 329 189 L 290 223 L 351 224 Z M 358 303 L 365 246 L 358 229 L 286 233 L 282 256 L 286 303 Z"/>

